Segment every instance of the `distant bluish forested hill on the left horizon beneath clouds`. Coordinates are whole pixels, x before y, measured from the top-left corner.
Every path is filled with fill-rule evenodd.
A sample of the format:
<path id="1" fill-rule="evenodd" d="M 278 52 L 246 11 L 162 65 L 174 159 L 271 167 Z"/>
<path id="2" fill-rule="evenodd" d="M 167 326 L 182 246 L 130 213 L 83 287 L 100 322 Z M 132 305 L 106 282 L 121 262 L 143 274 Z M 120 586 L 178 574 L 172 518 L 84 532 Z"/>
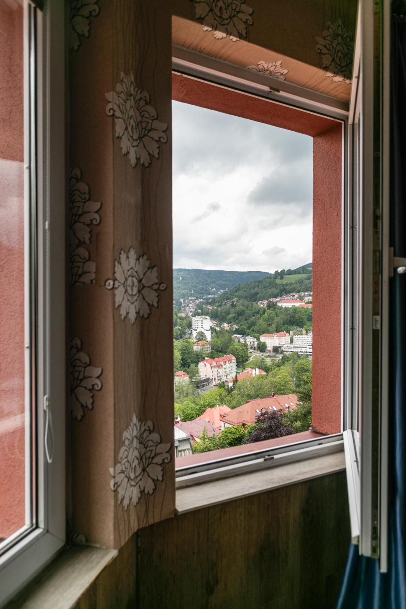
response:
<path id="1" fill-rule="evenodd" d="M 219 290 L 230 290 L 246 281 L 269 276 L 271 276 L 269 273 L 260 270 L 173 269 L 173 298 L 176 301 L 191 295 L 202 298 L 208 294 L 216 294 Z"/>

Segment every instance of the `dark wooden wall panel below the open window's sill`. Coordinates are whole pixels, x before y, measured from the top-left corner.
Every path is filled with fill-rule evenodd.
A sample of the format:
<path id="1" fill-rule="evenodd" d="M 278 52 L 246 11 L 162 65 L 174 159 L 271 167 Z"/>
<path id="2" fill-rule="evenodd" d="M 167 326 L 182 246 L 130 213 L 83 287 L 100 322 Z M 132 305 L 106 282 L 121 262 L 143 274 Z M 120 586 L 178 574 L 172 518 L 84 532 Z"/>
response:
<path id="1" fill-rule="evenodd" d="M 330 609 L 350 539 L 346 476 L 175 516 L 139 534 L 143 609 Z"/>

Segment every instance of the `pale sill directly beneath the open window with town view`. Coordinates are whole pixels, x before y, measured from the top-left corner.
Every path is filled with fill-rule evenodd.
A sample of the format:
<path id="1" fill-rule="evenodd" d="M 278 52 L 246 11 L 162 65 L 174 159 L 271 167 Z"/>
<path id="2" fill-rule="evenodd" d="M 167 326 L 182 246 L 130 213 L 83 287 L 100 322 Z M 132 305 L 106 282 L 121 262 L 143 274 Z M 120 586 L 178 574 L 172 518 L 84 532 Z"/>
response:
<path id="1" fill-rule="evenodd" d="M 344 452 L 280 465 L 268 470 L 242 474 L 223 480 L 206 482 L 176 491 L 176 513 L 183 514 L 210 505 L 257 495 L 274 488 L 285 487 L 312 478 L 327 476 L 346 468 Z"/>

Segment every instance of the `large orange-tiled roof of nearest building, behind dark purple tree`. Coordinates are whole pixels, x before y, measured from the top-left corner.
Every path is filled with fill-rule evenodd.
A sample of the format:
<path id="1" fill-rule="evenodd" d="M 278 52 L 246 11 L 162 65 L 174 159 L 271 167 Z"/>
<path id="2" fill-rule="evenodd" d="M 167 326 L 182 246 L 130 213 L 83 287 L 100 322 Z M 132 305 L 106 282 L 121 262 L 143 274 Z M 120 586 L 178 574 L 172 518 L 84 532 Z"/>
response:
<path id="1" fill-rule="evenodd" d="M 288 395 L 275 395 L 272 393 L 269 398 L 260 398 L 258 400 L 249 400 L 242 406 L 233 408 L 230 412 L 221 415 L 221 427 L 232 427 L 234 425 L 247 425 L 255 423 L 257 415 L 266 410 L 282 410 L 286 412 L 290 409 L 296 409 L 299 404 L 297 396 L 293 393 Z"/>

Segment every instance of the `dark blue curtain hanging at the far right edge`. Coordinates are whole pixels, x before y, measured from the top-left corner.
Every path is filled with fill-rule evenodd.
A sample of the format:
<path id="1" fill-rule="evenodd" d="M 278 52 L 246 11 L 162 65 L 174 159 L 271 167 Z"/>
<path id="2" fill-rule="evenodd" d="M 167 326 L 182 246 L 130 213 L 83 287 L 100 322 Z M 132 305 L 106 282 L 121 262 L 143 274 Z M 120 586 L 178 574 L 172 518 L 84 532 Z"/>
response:
<path id="1" fill-rule="evenodd" d="M 406 257 L 406 24 L 391 27 L 391 245 Z M 390 522 L 388 572 L 350 546 L 337 609 L 406 609 L 406 275 L 390 288 Z"/>

